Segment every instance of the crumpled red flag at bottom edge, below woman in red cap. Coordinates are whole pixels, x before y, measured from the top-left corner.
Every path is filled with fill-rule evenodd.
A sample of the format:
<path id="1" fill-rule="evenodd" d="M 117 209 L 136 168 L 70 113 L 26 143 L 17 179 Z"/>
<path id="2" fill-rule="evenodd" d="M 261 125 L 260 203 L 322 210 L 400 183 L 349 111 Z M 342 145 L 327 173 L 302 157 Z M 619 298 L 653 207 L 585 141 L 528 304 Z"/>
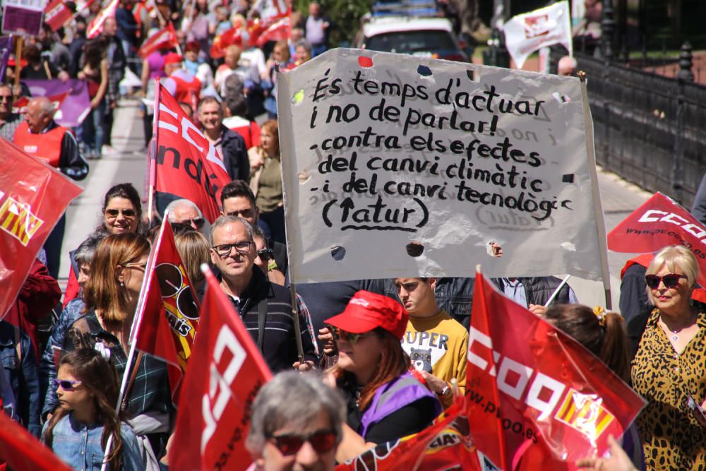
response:
<path id="1" fill-rule="evenodd" d="M 426 429 L 375 448 L 338 465 L 336 471 L 436 471 L 481 467 L 468 433 L 466 401 L 457 395 L 453 405 Z"/>

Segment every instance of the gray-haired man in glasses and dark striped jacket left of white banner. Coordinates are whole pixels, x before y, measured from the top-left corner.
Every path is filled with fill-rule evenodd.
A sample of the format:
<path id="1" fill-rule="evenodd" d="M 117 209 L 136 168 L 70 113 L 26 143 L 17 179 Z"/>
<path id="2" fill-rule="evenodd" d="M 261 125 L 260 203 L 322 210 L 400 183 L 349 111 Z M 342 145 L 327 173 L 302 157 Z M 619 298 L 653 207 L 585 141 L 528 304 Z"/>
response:
<path id="1" fill-rule="evenodd" d="M 211 261 L 220 271 L 220 287 L 238 311 L 273 372 L 311 369 L 316 352 L 306 321 L 299 314 L 304 363 L 297 358 L 292 297 L 287 288 L 270 283 L 254 267 L 258 255 L 253 228 L 242 217 L 221 216 L 210 229 Z M 304 306 L 299 309 L 299 313 Z"/>

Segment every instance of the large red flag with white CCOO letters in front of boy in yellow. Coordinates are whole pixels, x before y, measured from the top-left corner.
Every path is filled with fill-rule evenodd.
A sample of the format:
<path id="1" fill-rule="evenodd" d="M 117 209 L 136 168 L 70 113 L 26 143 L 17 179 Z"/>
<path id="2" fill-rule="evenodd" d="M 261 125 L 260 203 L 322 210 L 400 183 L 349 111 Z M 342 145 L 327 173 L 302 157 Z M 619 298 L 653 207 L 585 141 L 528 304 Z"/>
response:
<path id="1" fill-rule="evenodd" d="M 511 326 L 511 327 L 510 327 Z M 479 451 L 503 470 L 602 455 L 644 401 L 597 357 L 476 274 L 466 394 Z"/>

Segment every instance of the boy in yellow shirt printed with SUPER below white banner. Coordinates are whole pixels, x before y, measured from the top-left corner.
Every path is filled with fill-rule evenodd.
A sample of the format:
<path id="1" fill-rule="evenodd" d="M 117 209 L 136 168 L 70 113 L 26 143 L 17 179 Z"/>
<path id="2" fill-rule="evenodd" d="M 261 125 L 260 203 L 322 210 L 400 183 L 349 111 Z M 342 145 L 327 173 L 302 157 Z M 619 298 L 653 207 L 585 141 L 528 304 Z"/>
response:
<path id="1" fill-rule="evenodd" d="M 468 331 L 438 308 L 436 278 L 395 278 L 397 295 L 409 313 L 402 348 L 429 388 L 448 407 L 453 403 L 451 378 L 466 389 Z"/>

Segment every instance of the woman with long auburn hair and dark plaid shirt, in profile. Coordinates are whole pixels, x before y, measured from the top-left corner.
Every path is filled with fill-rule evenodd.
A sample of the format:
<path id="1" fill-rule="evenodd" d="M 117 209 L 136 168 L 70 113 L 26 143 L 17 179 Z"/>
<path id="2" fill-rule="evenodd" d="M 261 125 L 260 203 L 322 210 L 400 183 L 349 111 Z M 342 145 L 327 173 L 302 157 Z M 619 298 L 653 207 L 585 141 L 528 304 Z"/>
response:
<path id="1" fill-rule="evenodd" d="M 111 352 L 119 378 L 126 371 L 129 335 L 145 267 L 150 254 L 147 239 L 130 232 L 114 234 L 100 242 L 83 288 L 85 314 L 68 328 L 63 350 L 93 348 L 102 344 Z M 136 370 L 135 370 L 136 369 Z M 146 435 L 158 456 L 166 444 L 173 411 L 167 365 L 151 355 L 133 360 L 124 403 L 138 436 Z M 46 407 L 45 407 L 46 409 Z M 145 424 L 149 424 L 145 427 Z M 156 460 L 155 460 L 156 463 Z"/>

